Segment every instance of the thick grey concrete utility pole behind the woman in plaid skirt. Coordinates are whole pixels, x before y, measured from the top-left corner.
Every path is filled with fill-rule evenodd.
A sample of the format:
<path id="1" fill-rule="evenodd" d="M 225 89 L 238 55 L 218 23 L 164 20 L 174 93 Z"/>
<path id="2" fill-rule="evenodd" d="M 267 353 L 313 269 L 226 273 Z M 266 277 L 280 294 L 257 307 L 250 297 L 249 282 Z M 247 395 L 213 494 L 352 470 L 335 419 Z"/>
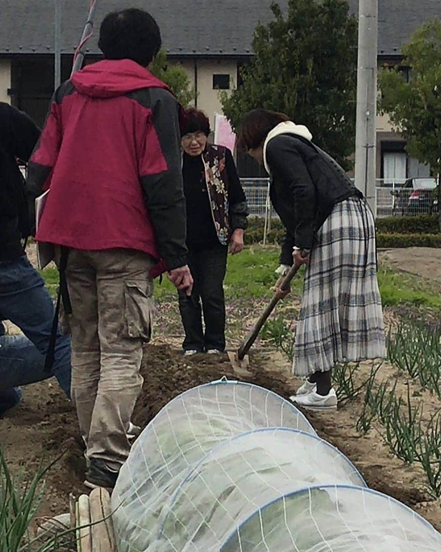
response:
<path id="1" fill-rule="evenodd" d="M 359 0 L 355 184 L 377 215 L 378 0 Z"/>

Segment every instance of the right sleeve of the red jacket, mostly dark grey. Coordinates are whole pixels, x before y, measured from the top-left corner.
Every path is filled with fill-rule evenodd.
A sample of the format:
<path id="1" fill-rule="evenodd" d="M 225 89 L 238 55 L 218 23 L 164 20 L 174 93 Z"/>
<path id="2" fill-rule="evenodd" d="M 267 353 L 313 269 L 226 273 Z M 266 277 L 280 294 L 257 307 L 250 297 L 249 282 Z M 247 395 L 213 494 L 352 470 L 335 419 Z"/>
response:
<path id="1" fill-rule="evenodd" d="M 187 263 L 186 210 L 182 185 L 179 104 L 170 92 L 161 88 L 143 91 L 153 112 L 155 134 L 144 155 L 157 156 L 147 164 L 149 174 L 140 174 L 146 206 L 152 220 L 160 256 L 168 270 Z M 157 144 L 157 146 L 155 146 Z M 154 166 L 158 167 L 155 169 Z"/>

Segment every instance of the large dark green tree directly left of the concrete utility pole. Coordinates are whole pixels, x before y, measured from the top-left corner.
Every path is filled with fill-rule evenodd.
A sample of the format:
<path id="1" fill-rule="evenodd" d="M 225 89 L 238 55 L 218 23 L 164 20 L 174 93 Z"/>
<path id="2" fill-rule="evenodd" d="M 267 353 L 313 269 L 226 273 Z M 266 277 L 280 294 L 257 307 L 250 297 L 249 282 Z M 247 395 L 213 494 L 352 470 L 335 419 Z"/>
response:
<path id="1" fill-rule="evenodd" d="M 224 113 L 237 129 L 250 109 L 286 113 L 308 126 L 314 141 L 345 168 L 354 151 L 357 20 L 345 0 L 288 0 L 286 17 L 271 4 L 273 20 L 259 24 L 254 57 L 240 71 L 243 84 L 221 93 Z"/>

